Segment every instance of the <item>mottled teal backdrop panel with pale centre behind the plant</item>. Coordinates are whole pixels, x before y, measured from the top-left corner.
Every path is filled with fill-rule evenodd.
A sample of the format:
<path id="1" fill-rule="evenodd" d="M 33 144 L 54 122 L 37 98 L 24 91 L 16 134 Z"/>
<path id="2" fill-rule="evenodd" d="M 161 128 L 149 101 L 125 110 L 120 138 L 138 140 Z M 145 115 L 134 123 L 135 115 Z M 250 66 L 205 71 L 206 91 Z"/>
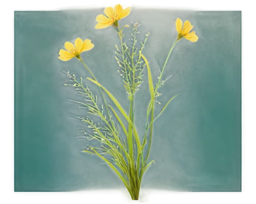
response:
<path id="1" fill-rule="evenodd" d="M 67 99 L 83 100 L 62 70 L 84 80 L 89 73 L 75 59 L 63 62 L 58 51 L 77 37 L 95 47 L 82 53 L 97 80 L 128 111 L 129 104 L 114 59 L 119 39 L 113 29 L 96 30 L 103 7 L 15 10 L 12 67 L 12 184 L 14 193 L 112 192 L 123 185 L 98 157 L 81 152 L 86 144 L 75 138 L 85 127 L 76 116 L 84 109 Z M 177 32 L 175 20 L 189 20 L 199 36 L 196 43 L 177 43 L 167 63 L 160 89 L 162 105 L 178 93 L 155 122 L 150 160 L 142 188 L 152 192 L 243 191 L 243 13 L 163 6 L 133 7 L 120 21 L 141 23 L 140 37 L 151 32 L 144 49 L 154 84 L 156 60 L 162 67 Z M 131 28 L 125 29 L 126 42 Z M 93 93 L 98 88 L 87 82 Z M 142 137 L 150 99 L 147 74 L 137 92 L 136 125 Z"/>

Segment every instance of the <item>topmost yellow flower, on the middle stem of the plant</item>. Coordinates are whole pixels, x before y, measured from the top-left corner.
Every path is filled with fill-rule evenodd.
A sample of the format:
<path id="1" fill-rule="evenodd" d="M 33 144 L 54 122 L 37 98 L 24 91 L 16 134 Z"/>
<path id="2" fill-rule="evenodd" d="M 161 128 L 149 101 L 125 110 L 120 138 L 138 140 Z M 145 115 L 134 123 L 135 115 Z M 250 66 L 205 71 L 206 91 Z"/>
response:
<path id="1" fill-rule="evenodd" d="M 111 25 L 118 26 L 118 20 L 125 18 L 131 12 L 131 7 L 126 7 L 125 9 L 121 6 L 121 4 L 117 4 L 114 9 L 113 7 L 106 7 L 104 9 L 103 14 L 99 14 L 96 17 L 96 21 L 98 22 L 95 26 L 95 29 L 104 29 L 108 28 Z"/>

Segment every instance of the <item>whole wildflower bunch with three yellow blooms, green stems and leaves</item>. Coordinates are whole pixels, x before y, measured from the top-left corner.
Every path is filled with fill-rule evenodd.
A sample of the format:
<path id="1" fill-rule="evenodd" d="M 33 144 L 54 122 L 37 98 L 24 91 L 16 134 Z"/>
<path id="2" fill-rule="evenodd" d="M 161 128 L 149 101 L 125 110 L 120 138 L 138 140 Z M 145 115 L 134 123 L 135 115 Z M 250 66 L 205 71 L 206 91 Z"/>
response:
<path id="1" fill-rule="evenodd" d="M 123 110 L 123 105 L 119 104 L 117 99 L 97 81 L 91 69 L 89 69 L 89 67 L 83 62 L 80 54 L 94 47 L 91 40 L 86 39 L 82 41 L 82 39 L 77 38 L 74 44 L 66 42 L 66 50 L 60 49 L 58 58 L 62 61 L 69 61 L 72 58 L 76 58 L 80 61 L 91 76 L 91 78 L 88 77 L 87 80 L 98 86 L 103 99 L 103 104 L 99 104 L 97 95 L 94 95 L 88 85 L 83 83 L 82 78 L 77 79 L 76 76 L 74 74 L 70 74 L 69 71 L 63 71 L 70 79 L 70 84 L 65 85 L 75 87 L 78 94 L 85 98 L 83 102 L 71 100 L 78 103 L 79 108 L 87 109 L 88 116 L 74 116 L 80 119 L 87 126 L 86 131 L 79 128 L 81 133 L 84 135 L 81 137 L 87 138 L 88 140 L 97 140 L 99 142 L 97 147 L 88 145 L 88 148 L 82 151 L 96 155 L 101 158 L 105 164 L 108 164 L 130 193 L 133 202 L 136 203 L 139 200 L 142 177 L 147 168 L 155 162 L 154 160 L 148 161 L 152 146 L 154 121 L 161 115 L 170 101 L 179 95 L 177 94 L 172 97 L 162 108 L 160 113 L 155 116 L 155 105 L 156 103 L 160 104 L 158 97 L 162 94 L 159 92 L 159 89 L 171 77 L 162 79 L 163 71 L 166 67 L 170 53 L 172 53 L 173 48 L 178 41 L 185 38 L 191 42 L 196 42 L 198 37 L 194 31 L 189 33 L 191 29 L 193 29 L 193 25 L 191 25 L 188 20 L 183 24 L 181 19 L 177 18 L 175 23 L 178 33 L 177 39 L 170 48 L 163 67 L 160 68 L 158 65 L 159 76 L 157 78 L 158 81 L 154 86 L 150 65 L 148 64 L 146 57 L 142 54 L 150 33 L 146 33 L 144 40 L 142 42 L 138 42 L 137 35 L 140 34 L 140 23 L 138 20 L 135 20 L 135 22 L 132 22 L 130 42 L 126 43 L 123 41 L 123 29 L 129 28 L 130 25 L 123 25 L 120 27 L 119 20 L 130 14 L 131 7 L 123 8 L 122 5 L 123 4 L 117 4 L 114 8 L 112 6 L 106 7 L 104 9 L 105 15 L 99 14 L 96 17 L 97 24 L 95 29 L 111 27 L 119 38 L 120 44 L 115 45 L 116 50 L 114 58 L 118 65 L 117 71 L 120 74 L 121 80 L 124 84 L 124 89 L 127 93 L 129 113 L 126 113 Z M 141 142 L 134 122 L 136 117 L 134 105 L 135 92 L 139 90 L 140 85 L 143 83 L 145 70 L 147 73 L 146 75 L 148 78 L 148 87 L 151 98 L 147 106 L 145 131 Z M 114 110 L 113 105 L 106 103 L 105 96 L 108 96 L 112 100 L 113 105 L 118 109 L 118 112 Z M 115 123 L 114 118 L 118 123 Z M 122 139 L 122 136 L 124 136 L 124 139 Z M 145 147 L 147 143 L 148 146 L 146 149 Z"/>

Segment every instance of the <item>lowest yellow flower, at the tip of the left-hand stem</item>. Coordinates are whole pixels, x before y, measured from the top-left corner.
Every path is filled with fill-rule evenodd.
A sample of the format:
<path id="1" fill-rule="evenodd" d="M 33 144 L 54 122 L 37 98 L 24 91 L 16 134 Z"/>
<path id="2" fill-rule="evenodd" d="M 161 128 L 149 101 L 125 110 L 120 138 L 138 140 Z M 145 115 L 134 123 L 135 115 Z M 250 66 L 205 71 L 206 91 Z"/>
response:
<path id="1" fill-rule="evenodd" d="M 94 44 L 92 44 L 89 39 L 82 41 L 81 38 L 76 38 L 75 45 L 71 42 L 65 42 L 64 47 L 67 50 L 60 49 L 58 58 L 62 61 L 69 61 L 74 57 L 81 59 L 80 54 L 92 49 Z"/>

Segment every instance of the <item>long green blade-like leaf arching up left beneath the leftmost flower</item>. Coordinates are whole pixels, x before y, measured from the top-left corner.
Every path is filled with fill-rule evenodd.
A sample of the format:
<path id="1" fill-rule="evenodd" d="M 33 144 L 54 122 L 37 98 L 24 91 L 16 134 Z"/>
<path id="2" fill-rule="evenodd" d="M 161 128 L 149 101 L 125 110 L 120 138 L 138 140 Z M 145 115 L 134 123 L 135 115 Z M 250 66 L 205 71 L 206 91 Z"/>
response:
<path id="1" fill-rule="evenodd" d="M 116 107 L 118 108 L 118 110 L 122 113 L 123 117 L 130 123 L 133 124 L 132 121 L 130 120 L 129 116 L 127 116 L 127 114 L 125 113 L 125 111 L 123 110 L 123 108 L 121 107 L 121 105 L 118 103 L 118 101 L 116 100 L 116 98 L 108 91 L 106 90 L 101 84 L 99 84 L 98 82 L 87 78 L 88 80 L 90 80 L 91 82 L 93 82 L 94 84 L 98 85 L 99 87 L 101 87 L 106 94 L 109 95 L 109 97 L 112 99 L 112 101 L 114 102 L 114 104 L 116 105 Z M 133 124 L 133 132 L 134 132 L 134 136 L 135 136 L 135 140 L 136 140 L 136 144 L 137 144 L 137 148 L 138 148 L 138 152 L 140 152 L 141 150 L 141 144 L 140 144 L 140 138 L 138 135 L 138 132 Z"/>

